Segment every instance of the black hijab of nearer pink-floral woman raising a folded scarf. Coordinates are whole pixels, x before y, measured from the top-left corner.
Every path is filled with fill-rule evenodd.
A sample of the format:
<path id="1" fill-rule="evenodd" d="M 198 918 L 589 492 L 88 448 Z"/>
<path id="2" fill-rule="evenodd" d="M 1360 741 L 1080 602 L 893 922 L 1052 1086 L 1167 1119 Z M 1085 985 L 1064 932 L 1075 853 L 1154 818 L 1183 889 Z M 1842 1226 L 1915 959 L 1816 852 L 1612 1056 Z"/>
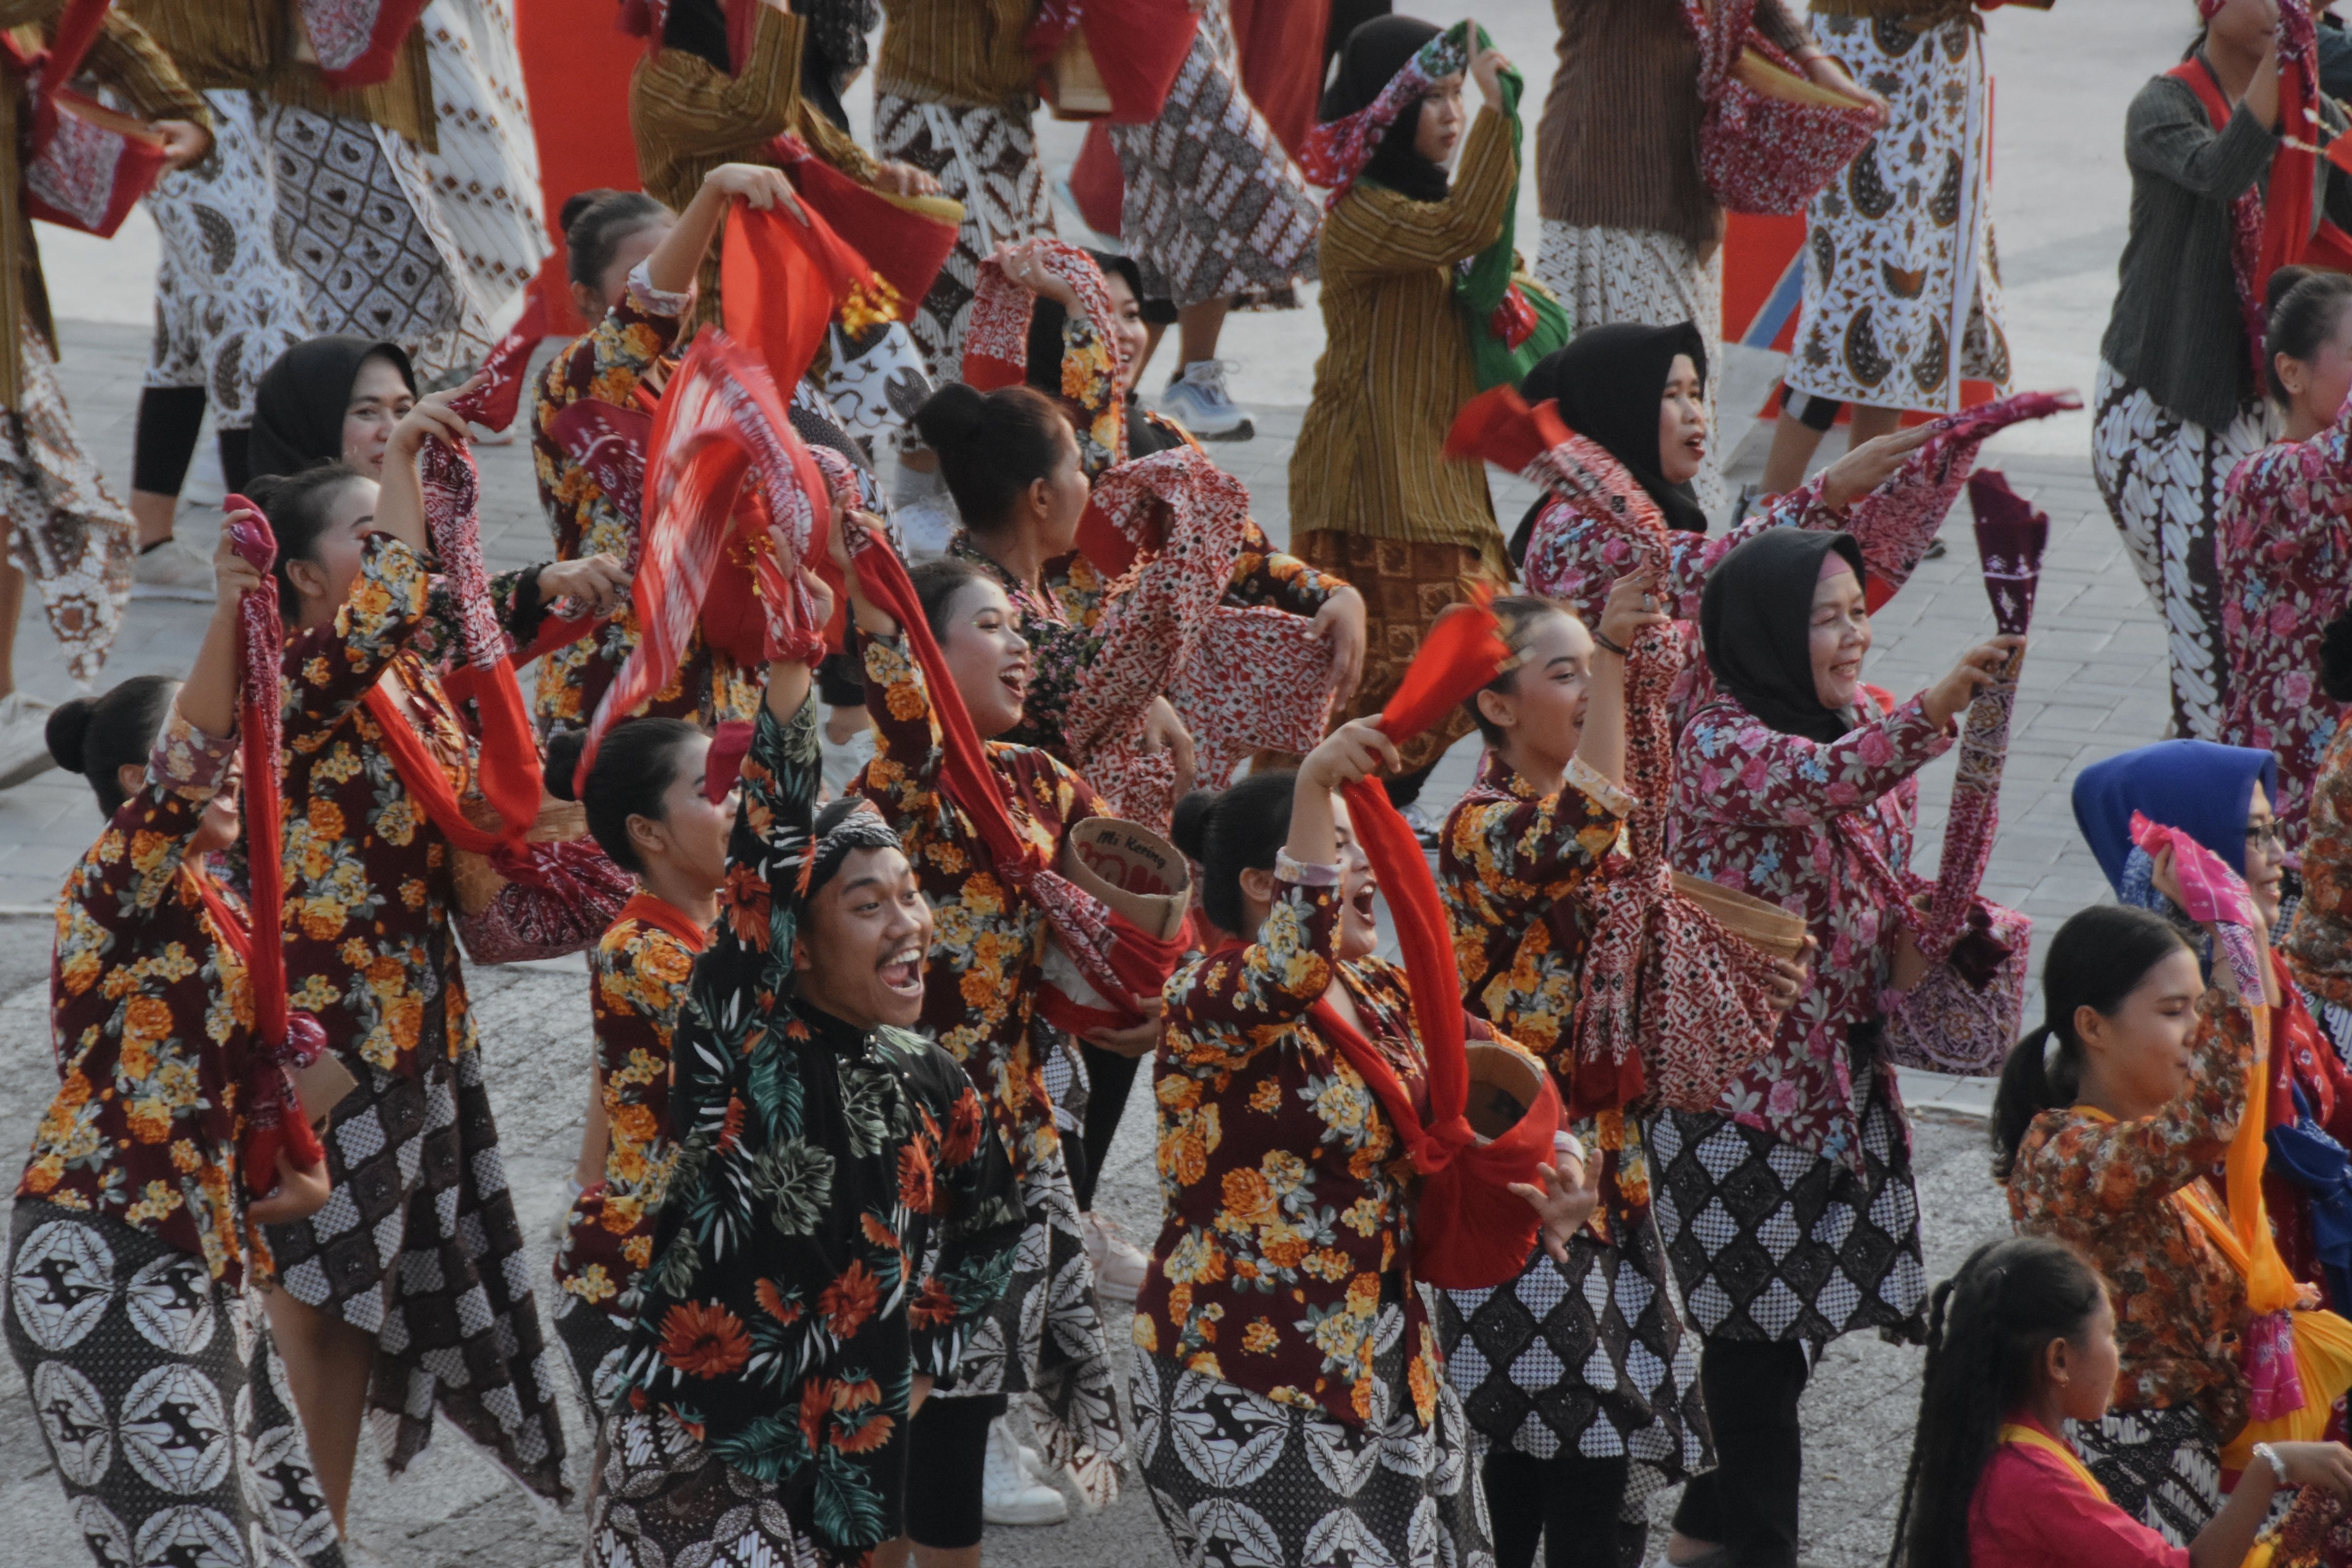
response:
<path id="1" fill-rule="evenodd" d="M 1717 562 L 1698 595 L 1698 639 L 1715 682 L 1783 736 L 1823 743 L 1853 729 L 1813 686 L 1813 583 L 1830 550 L 1870 583 L 1851 534 L 1764 529 Z"/>

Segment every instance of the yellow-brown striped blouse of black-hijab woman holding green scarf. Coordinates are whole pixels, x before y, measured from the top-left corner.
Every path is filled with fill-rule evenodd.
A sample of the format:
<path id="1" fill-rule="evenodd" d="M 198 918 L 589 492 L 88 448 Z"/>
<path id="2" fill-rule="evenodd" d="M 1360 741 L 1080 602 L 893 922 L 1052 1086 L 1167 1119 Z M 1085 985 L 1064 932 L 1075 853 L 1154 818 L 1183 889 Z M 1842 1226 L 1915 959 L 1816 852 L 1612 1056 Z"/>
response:
<path id="1" fill-rule="evenodd" d="M 1324 357 L 1291 456 L 1291 541 L 1308 529 L 1477 550 L 1508 581 L 1486 470 L 1444 458 L 1477 395 L 1451 266 L 1494 244 L 1519 190 L 1510 122 L 1479 108 L 1442 202 L 1357 183 L 1324 216 Z"/>

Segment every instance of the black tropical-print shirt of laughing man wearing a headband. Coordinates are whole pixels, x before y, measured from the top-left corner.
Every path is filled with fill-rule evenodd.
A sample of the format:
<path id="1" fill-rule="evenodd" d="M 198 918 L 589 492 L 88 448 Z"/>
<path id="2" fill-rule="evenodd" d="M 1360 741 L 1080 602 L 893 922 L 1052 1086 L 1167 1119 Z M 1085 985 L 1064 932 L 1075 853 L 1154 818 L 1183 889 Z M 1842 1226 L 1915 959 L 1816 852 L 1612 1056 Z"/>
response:
<path id="1" fill-rule="evenodd" d="M 795 999 L 814 811 L 816 701 L 790 724 L 762 705 L 677 1020 L 677 1157 L 621 1380 L 776 1483 L 828 1561 L 863 1563 L 901 1533 L 913 1378 L 953 1378 L 1021 1204 L 946 1051 Z"/>

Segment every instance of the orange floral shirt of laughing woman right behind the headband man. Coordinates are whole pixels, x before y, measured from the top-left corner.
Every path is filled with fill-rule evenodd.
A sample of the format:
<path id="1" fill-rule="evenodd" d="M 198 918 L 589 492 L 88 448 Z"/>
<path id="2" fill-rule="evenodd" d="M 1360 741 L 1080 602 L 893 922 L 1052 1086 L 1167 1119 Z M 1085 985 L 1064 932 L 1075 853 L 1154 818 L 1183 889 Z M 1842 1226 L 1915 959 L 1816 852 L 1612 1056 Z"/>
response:
<path id="1" fill-rule="evenodd" d="M 1044 907 L 997 870 L 981 830 L 941 790 L 946 752 L 931 693 L 898 637 L 866 639 L 866 710 L 875 722 L 875 759 L 858 788 L 898 830 L 936 922 L 920 1027 L 981 1086 L 1014 1168 L 1025 1175 L 1061 1150 L 1044 1058 L 1030 1030 L 1044 966 Z M 1004 741 L 985 748 L 1014 827 L 1037 846 L 1044 865 L 1061 858 L 1070 823 L 1110 816 L 1094 785 L 1051 755 Z"/>

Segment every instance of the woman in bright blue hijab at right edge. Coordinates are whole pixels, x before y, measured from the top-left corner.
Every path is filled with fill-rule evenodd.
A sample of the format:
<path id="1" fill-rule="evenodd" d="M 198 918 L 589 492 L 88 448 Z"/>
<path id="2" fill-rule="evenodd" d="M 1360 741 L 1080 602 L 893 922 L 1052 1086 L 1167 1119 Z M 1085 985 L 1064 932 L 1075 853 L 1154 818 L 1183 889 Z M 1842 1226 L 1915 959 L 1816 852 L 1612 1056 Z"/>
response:
<path id="1" fill-rule="evenodd" d="M 2279 762 L 2270 752 L 2206 741 L 2159 741 L 2093 762 L 2074 778 L 2074 820 L 2098 856 L 2117 900 L 2152 910 L 2194 945 L 2204 931 L 2154 886 L 2154 863 L 2131 842 L 2133 813 L 2178 827 L 2244 877 L 2265 931 L 2284 936 L 2286 846 L 2272 816 Z M 2201 954 L 2211 961 L 2213 954 Z M 2263 980 L 2270 1004 L 2270 1105 L 2279 1159 L 2263 1175 L 2270 1229 L 2296 1279 L 2326 1291 L 2328 1305 L 2352 1305 L 2352 1272 L 2324 1269 L 2324 1239 L 2336 1229 L 2333 1194 L 2347 1178 L 2352 1143 L 2352 1070 L 2312 1018 L 2279 952 Z M 2312 1133 L 2319 1133 L 2312 1138 Z"/>

